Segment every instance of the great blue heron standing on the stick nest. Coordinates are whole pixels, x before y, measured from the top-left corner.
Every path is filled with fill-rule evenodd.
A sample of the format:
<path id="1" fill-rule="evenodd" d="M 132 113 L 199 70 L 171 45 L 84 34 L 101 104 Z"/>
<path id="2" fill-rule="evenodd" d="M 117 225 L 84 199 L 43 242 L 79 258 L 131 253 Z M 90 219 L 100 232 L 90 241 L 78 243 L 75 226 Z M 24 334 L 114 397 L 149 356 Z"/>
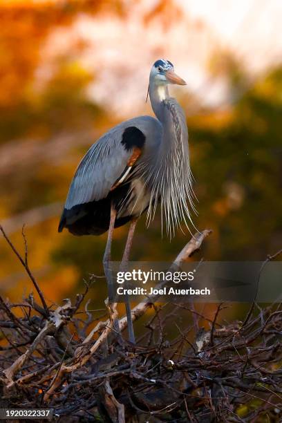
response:
<path id="1" fill-rule="evenodd" d="M 74 235 L 109 230 L 104 270 L 109 283 L 113 229 L 131 222 L 122 263 L 129 259 L 136 221 L 147 210 L 151 221 L 160 201 L 162 225 L 169 234 L 180 221 L 191 221 L 193 205 L 185 113 L 169 96 L 168 84 L 185 85 L 168 60 L 157 60 L 149 77 L 149 96 L 156 118 L 140 116 L 118 124 L 93 144 L 80 162 L 59 222 Z M 126 303 L 129 339 L 134 341 L 131 310 Z"/>

